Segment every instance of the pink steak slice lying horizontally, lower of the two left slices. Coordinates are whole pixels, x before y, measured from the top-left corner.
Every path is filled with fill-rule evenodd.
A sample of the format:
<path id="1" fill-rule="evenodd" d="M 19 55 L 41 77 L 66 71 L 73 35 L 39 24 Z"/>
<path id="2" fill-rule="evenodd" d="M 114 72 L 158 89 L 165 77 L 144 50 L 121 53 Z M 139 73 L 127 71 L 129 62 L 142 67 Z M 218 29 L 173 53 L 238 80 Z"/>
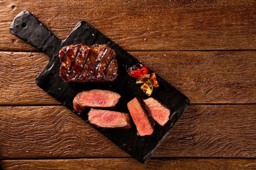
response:
<path id="1" fill-rule="evenodd" d="M 90 124 L 103 128 L 130 128 L 130 116 L 111 110 L 92 108 L 88 113 Z"/>

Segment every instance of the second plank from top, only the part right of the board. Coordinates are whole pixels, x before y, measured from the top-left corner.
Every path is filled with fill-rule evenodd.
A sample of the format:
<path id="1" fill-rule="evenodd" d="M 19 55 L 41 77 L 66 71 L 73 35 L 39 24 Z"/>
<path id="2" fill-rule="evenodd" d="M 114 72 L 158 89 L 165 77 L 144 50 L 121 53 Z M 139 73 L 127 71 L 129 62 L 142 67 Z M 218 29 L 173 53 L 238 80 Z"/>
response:
<path id="1" fill-rule="evenodd" d="M 256 51 L 131 54 L 182 91 L 191 103 L 256 103 Z"/>

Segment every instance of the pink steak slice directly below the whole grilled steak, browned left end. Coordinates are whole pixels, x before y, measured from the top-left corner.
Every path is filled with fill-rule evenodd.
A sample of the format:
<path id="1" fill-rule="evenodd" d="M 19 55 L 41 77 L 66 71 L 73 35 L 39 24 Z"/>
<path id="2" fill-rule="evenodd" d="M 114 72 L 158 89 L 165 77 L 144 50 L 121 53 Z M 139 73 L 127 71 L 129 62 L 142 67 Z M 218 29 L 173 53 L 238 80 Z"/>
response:
<path id="1" fill-rule="evenodd" d="M 74 109 L 82 112 L 84 107 L 114 107 L 119 101 L 121 95 L 112 91 L 93 89 L 78 93 L 73 100 Z"/>

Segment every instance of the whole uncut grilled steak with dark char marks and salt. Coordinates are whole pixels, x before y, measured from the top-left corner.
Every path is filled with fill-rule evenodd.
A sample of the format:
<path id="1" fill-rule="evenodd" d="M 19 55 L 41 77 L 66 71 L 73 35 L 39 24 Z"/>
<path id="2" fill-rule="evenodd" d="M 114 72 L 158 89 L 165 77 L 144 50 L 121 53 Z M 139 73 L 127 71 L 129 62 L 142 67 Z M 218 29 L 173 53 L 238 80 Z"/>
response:
<path id="1" fill-rule="evenodd" d="M 60 76 L 65 82 L 105 82 L 117 77 L 115 51 L 105 44 L 64 46 L 59 58 Z"/>

